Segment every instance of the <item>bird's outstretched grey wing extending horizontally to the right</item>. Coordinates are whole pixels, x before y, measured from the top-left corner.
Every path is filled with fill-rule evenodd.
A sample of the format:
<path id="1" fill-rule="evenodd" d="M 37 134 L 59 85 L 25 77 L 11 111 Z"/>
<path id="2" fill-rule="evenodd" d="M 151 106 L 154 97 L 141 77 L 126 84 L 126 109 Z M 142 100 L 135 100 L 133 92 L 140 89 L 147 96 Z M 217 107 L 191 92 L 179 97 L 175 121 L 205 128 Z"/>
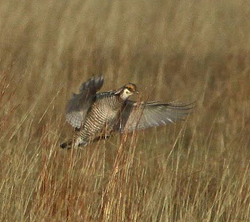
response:
<path id="1" fill-rule="evenodd" d="M 128 100 L 124 105 L 120 123 L 116 130 L 131 132 L 137 129 L 174 123 L 178 120 L 184 120 L 194 107 L 195 103 L 136 103 Z"/>

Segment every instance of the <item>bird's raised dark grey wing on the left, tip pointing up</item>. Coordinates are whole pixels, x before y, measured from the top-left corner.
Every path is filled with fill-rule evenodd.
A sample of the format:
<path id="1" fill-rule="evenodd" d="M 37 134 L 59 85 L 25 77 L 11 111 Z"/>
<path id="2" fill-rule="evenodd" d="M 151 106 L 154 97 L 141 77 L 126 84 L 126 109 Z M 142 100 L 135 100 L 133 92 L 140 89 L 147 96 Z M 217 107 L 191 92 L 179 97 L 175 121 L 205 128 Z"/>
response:
<path id="1" fill-rule="evenodd" d="M 66 111 L 66 120 L 73 127 L 80 128 L 90 106 L 93 104 L 96 92 L 103 85 L 103 77 L 91 78 L 84 82 L 78 94 L 73 94 Z"/>

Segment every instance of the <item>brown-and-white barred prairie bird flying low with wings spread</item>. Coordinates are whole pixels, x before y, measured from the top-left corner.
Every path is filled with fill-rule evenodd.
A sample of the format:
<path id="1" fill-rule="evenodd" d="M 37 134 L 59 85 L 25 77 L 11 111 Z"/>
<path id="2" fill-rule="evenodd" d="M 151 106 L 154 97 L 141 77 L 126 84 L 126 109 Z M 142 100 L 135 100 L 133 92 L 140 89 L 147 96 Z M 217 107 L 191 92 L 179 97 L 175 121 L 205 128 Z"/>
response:
<path id="1" fill-rule="evenodd" d="M 137 102 L 129 97 L 139 94 L 134 83 L 117 90 L 98 92 L 104 77 L 92 77 L 82 83 L 66 108 L 66 121 L 75 128 L 72 139 L 61 148 L 87 146 L 115 132 L 123 134 L 184 120 L 194 108 L 192 103 Z"/>

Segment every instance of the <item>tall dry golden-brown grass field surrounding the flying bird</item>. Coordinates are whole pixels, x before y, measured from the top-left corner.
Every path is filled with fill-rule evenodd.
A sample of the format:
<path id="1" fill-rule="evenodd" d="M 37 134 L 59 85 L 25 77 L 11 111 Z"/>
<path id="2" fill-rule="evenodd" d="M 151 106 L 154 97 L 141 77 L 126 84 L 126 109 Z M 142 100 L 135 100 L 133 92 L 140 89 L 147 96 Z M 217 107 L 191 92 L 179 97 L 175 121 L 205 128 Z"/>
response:
<path id="1" fill-rule="evenodd" d="M 1 0 L 0 221 L 250 221 L 243 0 Z M 81 150 L 65 106 L 94 75 L 184 122 Z"/>

